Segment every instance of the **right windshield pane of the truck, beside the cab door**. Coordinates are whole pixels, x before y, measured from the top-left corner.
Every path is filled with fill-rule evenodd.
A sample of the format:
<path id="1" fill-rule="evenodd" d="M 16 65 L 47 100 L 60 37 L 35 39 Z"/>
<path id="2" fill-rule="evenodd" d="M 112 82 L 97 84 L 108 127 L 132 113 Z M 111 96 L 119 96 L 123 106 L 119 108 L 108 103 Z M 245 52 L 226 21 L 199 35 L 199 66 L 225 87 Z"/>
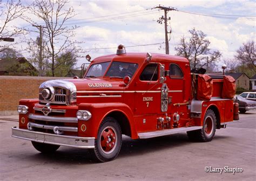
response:
<path id="1" fill-rule="evenodd" d="M 107 71 L 106 76 L 120 77 L 130 76 L 132 78 L 133 74 L 136 72 L 138 64 L 113 61 L 109 71 Z"/>

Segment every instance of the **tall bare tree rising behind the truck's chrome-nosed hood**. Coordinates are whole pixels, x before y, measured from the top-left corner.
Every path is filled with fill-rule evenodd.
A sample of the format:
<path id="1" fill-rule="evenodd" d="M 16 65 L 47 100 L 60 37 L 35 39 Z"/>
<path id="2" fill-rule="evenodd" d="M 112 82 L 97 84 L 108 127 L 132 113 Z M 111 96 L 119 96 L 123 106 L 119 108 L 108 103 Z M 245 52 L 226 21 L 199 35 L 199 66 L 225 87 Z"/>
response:
<path id="1" fill-rule="evenodd" d="M 36 0 L 29 6 L 29 17 L 25 18 L 38 30 L 40 25 L 43 26 L 44 51 L 47 55 L 46 58 L 49 59 L 49 61 L 46 61 L 46 66 L 51 69 L 52 76 L 55 76 L 55 69 L 63 64 L 63 61 L 56 61 L 59 54 L 65 52 L 66 48 L 75 54 L 81 50 L 77 46 L 80 42 L 72 40 L 77 26 L 65 26 L 65 22 L 76 15 L 72 7 L 65 9 L 67 3 L 66 0 Z M 37 18 L 37 20 L 33 18 Z M 38 24 L 38 22 L 43 22 L 43 25 Z"/>

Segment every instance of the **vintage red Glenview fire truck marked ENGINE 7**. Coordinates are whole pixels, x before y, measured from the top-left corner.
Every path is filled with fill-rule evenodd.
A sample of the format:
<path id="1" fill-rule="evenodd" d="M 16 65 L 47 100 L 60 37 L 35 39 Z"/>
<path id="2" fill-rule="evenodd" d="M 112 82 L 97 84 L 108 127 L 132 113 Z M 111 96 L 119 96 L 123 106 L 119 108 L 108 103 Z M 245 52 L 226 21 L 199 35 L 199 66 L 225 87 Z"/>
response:
<path id="1" fill-rule="evenodd" d="M 208 142 L 238 113 L 233 99 L 222 96 L 229 91 L 224 83 L 191 73 L 186 58 L 126 53 L 119 45 L 116 54 L 91 61 L 82 79 L 46 81 L 39 99 L 20 100 L 12 136 L 43 153 L 61 145 L 90 149 L 100 162 L 117 157 L 122 134 L 145 139 L 186 132 Z"/>

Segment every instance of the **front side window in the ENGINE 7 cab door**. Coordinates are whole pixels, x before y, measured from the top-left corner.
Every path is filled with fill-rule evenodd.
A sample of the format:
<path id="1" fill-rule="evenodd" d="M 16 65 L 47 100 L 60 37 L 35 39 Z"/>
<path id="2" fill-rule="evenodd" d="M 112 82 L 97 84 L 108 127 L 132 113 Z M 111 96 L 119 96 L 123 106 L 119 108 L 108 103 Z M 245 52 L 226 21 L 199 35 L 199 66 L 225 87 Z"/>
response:
<path id="1" fill-rule="evenodd" d="M 142 74 L 139 76 L 139 80 L 142 81 L 157 81 L 158 79 L 158 65 L 149 64 L 147 65 Z"/>

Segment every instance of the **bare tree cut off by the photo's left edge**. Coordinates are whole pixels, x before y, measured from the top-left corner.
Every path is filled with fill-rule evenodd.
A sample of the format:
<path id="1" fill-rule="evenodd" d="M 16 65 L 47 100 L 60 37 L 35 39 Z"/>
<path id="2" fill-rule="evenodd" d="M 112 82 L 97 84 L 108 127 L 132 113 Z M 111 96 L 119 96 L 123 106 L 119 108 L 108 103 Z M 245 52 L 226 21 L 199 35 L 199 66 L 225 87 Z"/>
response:
<path id="1" fill-rule="evenodd" d="M 20 36 L 24 33 L 22 29 L 17 29 L 15 26 L 10 27 L 10 22 L 17 18 L 20 18 L 25 11 L 24 6 L 22 6 L 21 1 L 8 0 L 0 10 L 1 27 L 0 27 L 0 40 L 4 38 L 14 38 Z M 8 48 L 10 44 L 1 44 L 1 51 Z"/>

